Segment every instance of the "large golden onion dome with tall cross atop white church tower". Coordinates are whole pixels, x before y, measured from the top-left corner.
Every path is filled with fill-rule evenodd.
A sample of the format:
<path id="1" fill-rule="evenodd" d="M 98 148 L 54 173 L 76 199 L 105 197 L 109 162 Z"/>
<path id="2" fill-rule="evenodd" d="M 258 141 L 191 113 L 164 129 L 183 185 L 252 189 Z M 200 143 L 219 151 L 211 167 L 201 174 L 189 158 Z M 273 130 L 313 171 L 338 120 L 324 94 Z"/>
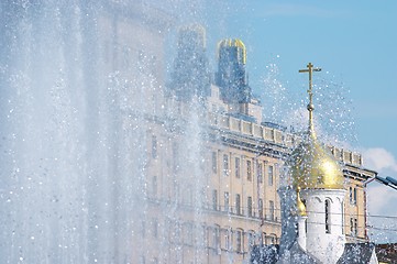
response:
<path id="1" fill-rule="evenodd" d="M 319 72 L 321 69 L 316 69 L 312 64 L 309 64 L 308 70 L 299 70 L 300 73 L 309 73 L 309 131 L 302 143 L 290 155 L 290 176 L 296 188 L 343 189 L 344 177 L 340 164 L 332 153 L 318 142 L 316 136 L 311 88 L 311 74 L 313 70 Z"/>

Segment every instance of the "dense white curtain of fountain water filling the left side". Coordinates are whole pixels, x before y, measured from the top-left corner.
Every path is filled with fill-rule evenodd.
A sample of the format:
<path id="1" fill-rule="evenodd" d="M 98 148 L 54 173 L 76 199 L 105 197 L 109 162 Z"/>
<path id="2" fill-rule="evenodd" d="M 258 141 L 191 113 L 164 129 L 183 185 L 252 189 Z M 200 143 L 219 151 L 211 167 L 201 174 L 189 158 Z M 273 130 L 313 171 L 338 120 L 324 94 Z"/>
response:
<path id="1" fill-rule="evenodd" d="M 164 99 L 170 20 L 133 1 L 1 3 L 1 263 L 140 260 L 179 239 L 161 226 L 178 224 L 186 182 L 201 208 L 199 121 L 176 120 Z M 185 127 L 190 141 L 173 146 Z M 186 170 L 170 165 L 176 153 L 189 177 L 158 183 Z M 169 201 L 157 217 L 159 191 Z"/>

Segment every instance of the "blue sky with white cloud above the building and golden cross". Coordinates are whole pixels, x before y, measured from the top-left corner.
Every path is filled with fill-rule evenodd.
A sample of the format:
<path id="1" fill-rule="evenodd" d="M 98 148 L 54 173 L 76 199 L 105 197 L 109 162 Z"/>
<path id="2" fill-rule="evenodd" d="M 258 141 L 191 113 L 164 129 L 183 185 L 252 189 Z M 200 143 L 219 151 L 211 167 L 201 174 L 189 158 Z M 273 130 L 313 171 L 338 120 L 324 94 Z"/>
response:
<path id="1" fill-rule="evenodd" d="M 207 16 L 210 56 L 220 38 L 243 40 L 257 95 L 265 96 L 269 65 L 276 65 L 272 76 L 284 92 L 300 97 L 307 76 L 298 69 L 309 62 L 320 66 L 315 82 L 340 84 L 333 86 L 340 97 L 329 108 L 343 100 L 354 121 L 349 133 L 356 140 L 350 147 L 363 153 L 365 166 L 379 176 L 397 178 L 397 1 L 212 1 Z M 397 216 L 396 201 L 397 190 L 371 184 L 371 215 Z M 381 222 L 374 224 L 396 231 L 374 231 L 374 238 L 397 242 L 396 219 Z"/>

